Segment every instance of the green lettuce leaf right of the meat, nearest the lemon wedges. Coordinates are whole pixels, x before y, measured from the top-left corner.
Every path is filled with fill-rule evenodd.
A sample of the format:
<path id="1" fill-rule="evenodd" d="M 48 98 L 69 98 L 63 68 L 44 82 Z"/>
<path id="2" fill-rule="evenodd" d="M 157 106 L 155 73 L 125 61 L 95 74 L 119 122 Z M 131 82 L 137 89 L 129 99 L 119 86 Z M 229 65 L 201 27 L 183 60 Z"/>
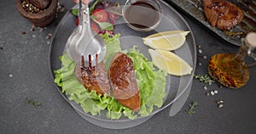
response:
<path id="1" fill-rule="evenodd" d="M 154 64 L 143 53 L 132 47 L 127 55 L 132 59 L 136 72 L 137 85 L 141 95 L 141 109 L 138 114 L 147 116 L 154 105 L 160 108 L 166 96 L 166 71 L 154 70 Z"/>

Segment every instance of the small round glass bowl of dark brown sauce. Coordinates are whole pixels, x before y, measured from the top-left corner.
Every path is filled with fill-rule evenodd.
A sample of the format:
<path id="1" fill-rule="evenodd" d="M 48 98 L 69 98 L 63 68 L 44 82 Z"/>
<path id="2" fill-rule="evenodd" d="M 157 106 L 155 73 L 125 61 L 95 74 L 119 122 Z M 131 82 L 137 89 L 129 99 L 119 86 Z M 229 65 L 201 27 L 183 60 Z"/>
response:
<path id="1" fill-rule="evenodd" d="M 136 29 L 154 29 L 160 21 L 159 9 L 148 1 L 137 1 L 131 3 L 125 9 L 125 20 Z"/>

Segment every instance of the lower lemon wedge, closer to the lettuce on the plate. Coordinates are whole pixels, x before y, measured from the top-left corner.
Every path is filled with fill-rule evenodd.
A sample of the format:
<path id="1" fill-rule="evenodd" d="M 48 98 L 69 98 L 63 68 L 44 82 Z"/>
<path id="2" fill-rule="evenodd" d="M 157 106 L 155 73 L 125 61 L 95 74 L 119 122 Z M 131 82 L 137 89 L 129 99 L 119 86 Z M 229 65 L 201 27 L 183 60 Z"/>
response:
<path id="1" fill-rule="evenodd" d="M 160 49 L 148 49 L 152 61 L 160 70 L 166 70 L 170 75 L 190 75 L 193 68 L 175 53 Z"/>

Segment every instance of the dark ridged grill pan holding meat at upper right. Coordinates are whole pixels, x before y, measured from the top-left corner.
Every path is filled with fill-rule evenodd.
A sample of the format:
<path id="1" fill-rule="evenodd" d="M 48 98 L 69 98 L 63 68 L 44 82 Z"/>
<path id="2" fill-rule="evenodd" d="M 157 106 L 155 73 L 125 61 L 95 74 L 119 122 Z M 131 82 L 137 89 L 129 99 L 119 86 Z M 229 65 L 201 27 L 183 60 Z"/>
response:
<path id="1" fill-rule="evenodd" d="M 217 27 L 212 27 L 204 14 L 201 0 L 165 0 L 172 5 L 181 8 L 185 13 L 189 14 L 195 20 L 201 22 L 209 30 L 222 37 L 227 42 L 240 46 L 241 37 L 245 36 L 250 31 L 256 31 L 256 0 L 228 0 L 230 3 L 240 7 L 245 17 L 239 25 L 236 25 L 232 32 L 242 32 L 240 36 L 227 36 L 225 31 L 219 30 Z"/>

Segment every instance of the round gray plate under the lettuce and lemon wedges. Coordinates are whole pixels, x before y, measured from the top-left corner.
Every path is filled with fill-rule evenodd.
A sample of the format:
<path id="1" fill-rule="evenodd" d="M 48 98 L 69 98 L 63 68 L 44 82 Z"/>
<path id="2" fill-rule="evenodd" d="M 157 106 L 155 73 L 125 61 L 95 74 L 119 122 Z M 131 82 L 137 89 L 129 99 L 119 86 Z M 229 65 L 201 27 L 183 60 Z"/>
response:
<path id="1" fill-rule="evenodd" d="M 137 45 L 139 50 L 149 59 L 150 56 L 148 54 L 148 47 L 143 45 L 143 41 L 141 37 L 148 36 L 156 32 L 160 31 L 174 31 L 174 30 L 183 30 L 183 31 L 191 31 L 189 25 L 185 20 L 183 20 L 182 16 L 178 14 L 172 7 L 168 4 L 160 1 L 162 8 L 164 9 L 164 17 L 160 22 L 160 25 L 154 31 L 133 31 L 125 21 L 120 18 L 115 25 L 115 32 L 120 33 L 120 41 L 121 47 L 123 49 L 132 47 L 133 45 Z M 53 78 L 55 78 L 54 70 L 58 70 L 61 68 L 61 61 L 59 60 L 59 56 L 61 56 L 64 52 L 64 48 L 66 46 L 67 38 L 72 33 L 75 28 L 76 17 L 70 12 L 70 10 L 65 14 L 60 24 L 55 30 L 55 34 L 50 46 L 49 53 L 49 69 Z M 187 61 L 192 67 L 193 71 L 191 75 L 184 76 L 173 76 L 169 75 L 166 87 L 170 87 L 169 92 L 166 92 L 166 99 L 163 103 L 163 106 L 160 109 L 154 109 L 152 114 L 149 114 L 146 117 L 139 116 L 135 120 L 129 120 L 127 118 L 121 118 L 120 120 L 109 120 L 106 118 L 105 114 L 93 116 L 91 114 L 84 113 L 84 111 L 79 107 L 78 104 L 69 101 L 67 96 L 61 93 L 61 88 L 57 87 L 58 92 L 61 93 L 61 96 L 70 103 L 73 108 L 80 114 L 85 120 L 93 123 L 97 126 L 112 128 L 112 129 L 121 129 L 127 128 L 131 126 L 137 126 L 142 124 L 144 121 L 148 120 L 152 115 L 160 112 L 162 109 L 166 109 L 166 107 L 170 106 L 174 103 L 177 98 L 179 98 L 183 92 L 188 89 L 189 85 L 193 80 L 193 75 L 195 73 L 195 64 L 196 64 L 196 48 L 195 48 L 195 38 L 193 36 L 193 32 L 191 31 L 187 36 L 186 42 L 183 44 L 183 47 L 180 47 L 174 53 L 177 53 L 181 58 Z M 171 79 L 171 81 L 170 81 Z M 105 116 L 105 117 L 104 117 Z"/>

